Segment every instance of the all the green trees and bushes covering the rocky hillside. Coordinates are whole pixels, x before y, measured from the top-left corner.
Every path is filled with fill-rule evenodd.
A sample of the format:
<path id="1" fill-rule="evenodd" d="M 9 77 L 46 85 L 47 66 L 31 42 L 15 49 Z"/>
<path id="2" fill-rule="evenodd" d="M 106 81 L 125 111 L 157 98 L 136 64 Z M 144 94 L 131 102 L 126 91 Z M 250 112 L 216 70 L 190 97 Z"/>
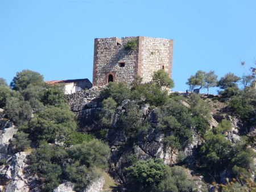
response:
<path id="1" fill-rule="evenodd" d="M 225 98 L 228 114 L 255 126 L 254 73 L 242 78 L 228 73 L 218 81 L 213 71 L 199 70 L 188 78 L 187 84 L 191 89 L 209 90 L 219 86 L 221 98 L 214 97 L 212 102 Z M 242 89 L 238 82 L 243 85 Z M 28 172 L 42 179 L 44 191 L 52 191 L 63 180 L 76 183 L 76 190 L 81 191 L 101 176 L 102 170 L 108 170 L 110 148 L 104 138 L 110 128 L 123 131 L 131 147 L 139 137 L 146 137 L 154 129 L 163 135 L 160 142 L 164 148 L 179 154 L 176 165 L 172 166 L 165 165 L 159 158 L 138 160 L 135 154 L 128 156 L 123 172 L 130 190 L 195 190 L 195 182 L 184 171 L 191 168 L 191 163 L 187 163 L 187 156 L 183 154 L 185 146 L 195 137 L 200 141 L 193 160 L 196 172 L 209 178 L 208 181 L 220 183 L 221 173 L 228 171 L 230 180 L 225 186 L 219 185 L 218 190 L 250 189 L 256 157 L 252 149 L 255 148 L 253 133 L 246 135 L 244 130 L 240 131 L 241 138 L 232 143 L 226 137 L 232 128 L 229 120 L 222 119 L 218 126 L 211 128 L 209 103 L 200 94 L 193 93 L 188 98 L 168 94 L 168 88 L 172 87 L 174 82 L 163 69 L 155 72 L 152 81 L 145 84 L 139 76 L 130 86 L 109 82 L 100 96 L 99 131 L 94 134 L 98 139 L 77 132 L 76 118 L 64 99 L 63 87 L 47 86 L 42 75 L 30 70 L 16 73 L 10 87 L 0 78 L 0 107 L 18 126 L 11 143 L 13 152 L 32 151 Z M 150 111 L 153 122 L 143 114 L 142 106 Z M 122 108 L 122 112 L 114 121 L 118 108 Z"/>

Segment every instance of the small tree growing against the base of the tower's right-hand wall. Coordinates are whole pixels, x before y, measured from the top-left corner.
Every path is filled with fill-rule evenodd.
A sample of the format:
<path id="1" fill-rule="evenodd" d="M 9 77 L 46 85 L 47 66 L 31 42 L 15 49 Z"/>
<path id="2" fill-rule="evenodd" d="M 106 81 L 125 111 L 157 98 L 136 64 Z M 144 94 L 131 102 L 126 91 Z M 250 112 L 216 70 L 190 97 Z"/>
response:
<path id="1" fill-rule="evenodd" d="M 169 77 L 169 74 L 164 69 L 154 72 L 152 80 L 158 86 L 166 86 L 168 88 L 174 87 L 174 81 Z"/>

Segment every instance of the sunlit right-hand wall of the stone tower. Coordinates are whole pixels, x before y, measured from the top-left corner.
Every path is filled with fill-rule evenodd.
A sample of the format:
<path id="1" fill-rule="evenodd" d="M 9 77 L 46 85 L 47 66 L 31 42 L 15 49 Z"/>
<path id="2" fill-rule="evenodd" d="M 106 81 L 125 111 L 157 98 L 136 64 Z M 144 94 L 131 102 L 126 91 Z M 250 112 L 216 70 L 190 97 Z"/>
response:
<path id="1" fill-rule="evenodd" d="M 154 72 L 163 68 L 171 78 L 172 45 L 172 39 L 140 37 L 139 68 L 141 71 L 138 74 L 143 78 L 143 82 L 150 82 Z"/>

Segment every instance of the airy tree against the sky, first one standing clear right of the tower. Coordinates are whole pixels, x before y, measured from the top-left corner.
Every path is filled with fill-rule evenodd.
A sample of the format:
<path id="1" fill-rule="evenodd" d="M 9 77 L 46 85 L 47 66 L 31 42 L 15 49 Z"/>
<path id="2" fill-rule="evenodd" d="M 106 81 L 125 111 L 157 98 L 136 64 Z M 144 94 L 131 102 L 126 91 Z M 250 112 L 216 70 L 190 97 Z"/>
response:
<path id="1" fill-rule="evenodd" d="M 217 86 L 217 75 L 214 74 L 213 70 L 210 70 L 209 73 L 203 72 L 203 70 L 198 70 L 195 76 L 188 78 L 186 82 L 189 85 L 189 89 L 192 91 L 196 86 L 200 86 L 199 89 L 207 89 L 209 94 L 209 88 Z"/>

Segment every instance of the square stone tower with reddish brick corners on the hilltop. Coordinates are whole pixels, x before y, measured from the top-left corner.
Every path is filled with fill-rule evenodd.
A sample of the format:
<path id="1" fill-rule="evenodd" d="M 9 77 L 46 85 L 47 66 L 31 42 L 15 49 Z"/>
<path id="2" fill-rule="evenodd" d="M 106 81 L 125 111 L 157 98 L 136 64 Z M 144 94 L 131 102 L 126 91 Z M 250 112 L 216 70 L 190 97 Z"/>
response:
<path id="1" fill-rule="evenodd" d="M 127 43 L 135 42 L 134 48 Z M 172 39 L 154 37 L 109 37 L 94 40 L 93 85 L 108 82 L 130 84 L 138 74 L 150 82 L 156 70 L 172 75 Z"/>

